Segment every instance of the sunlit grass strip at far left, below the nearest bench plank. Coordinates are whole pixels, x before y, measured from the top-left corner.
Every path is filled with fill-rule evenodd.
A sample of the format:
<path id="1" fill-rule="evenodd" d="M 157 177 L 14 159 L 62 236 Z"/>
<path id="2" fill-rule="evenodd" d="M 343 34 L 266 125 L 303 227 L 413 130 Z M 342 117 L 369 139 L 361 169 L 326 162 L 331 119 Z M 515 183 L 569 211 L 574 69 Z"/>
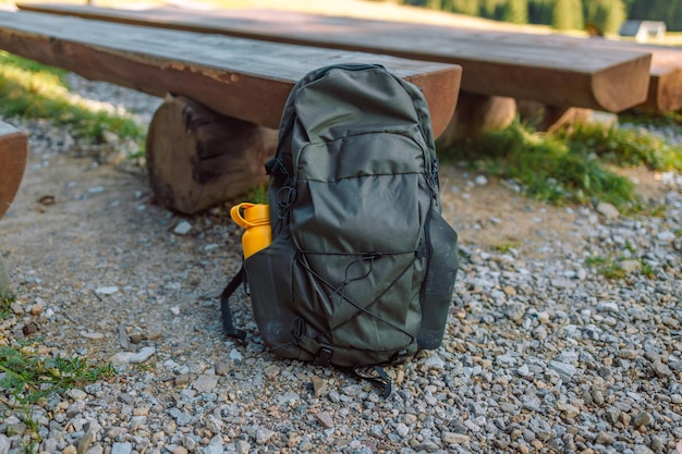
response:
<path id="1" fill-rule="evenodd" d="M 146 131 L 131 115 L 70 94 L 64 74 L 0 51 L 0 111 L 5 116 L 50 119 L 95 142 L 103 142 L 106 131 L 143 142 Z"/>

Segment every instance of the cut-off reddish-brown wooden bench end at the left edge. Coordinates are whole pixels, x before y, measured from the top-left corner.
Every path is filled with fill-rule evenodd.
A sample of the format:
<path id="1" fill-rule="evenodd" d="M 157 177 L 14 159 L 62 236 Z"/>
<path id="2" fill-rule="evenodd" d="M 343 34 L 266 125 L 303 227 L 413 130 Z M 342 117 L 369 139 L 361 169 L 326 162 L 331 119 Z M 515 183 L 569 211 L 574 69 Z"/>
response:
<path id="1" fill-rule="evenodd" d="M 0 122 L 0 219 L 14 200 L 24 176 L 27 158 L 26 134 Z"/>

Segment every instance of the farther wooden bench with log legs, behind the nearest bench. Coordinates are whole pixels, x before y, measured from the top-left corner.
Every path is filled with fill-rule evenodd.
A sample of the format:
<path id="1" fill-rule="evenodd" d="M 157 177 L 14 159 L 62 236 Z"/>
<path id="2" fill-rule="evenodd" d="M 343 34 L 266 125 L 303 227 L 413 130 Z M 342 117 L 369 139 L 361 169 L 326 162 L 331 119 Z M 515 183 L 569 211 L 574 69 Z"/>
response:
<path id="1" fill-rule="evenodd" d="M 440 145 L 503 127 L 519 113 L 550 130 L 588 110 L 682 107 L 682 51 L 611 39 L 438 26 L 265 9 L 126 10 L 19 3 L 27 11 L 192 30 L 463 66 L 458 110 Z"/>

